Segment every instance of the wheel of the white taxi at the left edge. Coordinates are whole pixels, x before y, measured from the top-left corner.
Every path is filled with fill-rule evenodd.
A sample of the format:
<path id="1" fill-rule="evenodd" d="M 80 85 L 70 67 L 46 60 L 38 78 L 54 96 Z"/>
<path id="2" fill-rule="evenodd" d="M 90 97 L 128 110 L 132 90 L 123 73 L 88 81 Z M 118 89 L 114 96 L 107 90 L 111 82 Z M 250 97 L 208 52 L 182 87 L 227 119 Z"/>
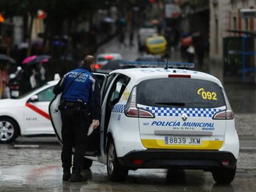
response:
<path id="1" fill-rule="evenodd" d="M 0 117 L 0 143 L 11 143 L 19 136 L 19 125 L 9 117 Z"/>

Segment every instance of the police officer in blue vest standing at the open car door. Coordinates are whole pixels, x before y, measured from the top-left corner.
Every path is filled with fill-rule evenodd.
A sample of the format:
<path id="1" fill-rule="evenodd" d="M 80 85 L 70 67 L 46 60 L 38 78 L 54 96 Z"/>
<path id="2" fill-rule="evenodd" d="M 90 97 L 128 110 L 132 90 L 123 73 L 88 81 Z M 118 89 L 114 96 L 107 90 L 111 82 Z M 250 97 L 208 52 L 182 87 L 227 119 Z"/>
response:
<path id="1" fill-rule="evenodd" d="M 64 75 L 54 86 L 53 93 L 62 93 L 62 167 L 64 181 L 84 182 L 82 177 L 83 158 L 87 145 L 87 133 L 90 124 L 100 119 L 100 85 L 91 73 L 95 65 L 93 56 L 85 56 L 79 69 Z M 99 123 L 98 123 L 99 124 Z M 97 128 L 96 124 L 93 128 Z M 72 175 L 72 147 L 75 148 Z"/>

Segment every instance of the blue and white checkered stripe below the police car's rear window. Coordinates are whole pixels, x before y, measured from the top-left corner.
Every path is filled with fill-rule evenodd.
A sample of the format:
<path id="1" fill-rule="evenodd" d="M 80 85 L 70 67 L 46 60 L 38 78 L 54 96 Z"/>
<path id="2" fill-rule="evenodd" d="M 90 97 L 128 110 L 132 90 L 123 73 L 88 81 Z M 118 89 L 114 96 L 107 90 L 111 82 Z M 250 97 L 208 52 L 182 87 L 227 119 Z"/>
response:
<path id="1" fill-rule="evenodd" d="M 143 107 L 147 111 L 151 111 L 155 116 L 179 117 L 187 114 L 188 117 L 212 117 L 216 112 L 225 109 L 220 108 L 169 108 L 169 107 Z"/>

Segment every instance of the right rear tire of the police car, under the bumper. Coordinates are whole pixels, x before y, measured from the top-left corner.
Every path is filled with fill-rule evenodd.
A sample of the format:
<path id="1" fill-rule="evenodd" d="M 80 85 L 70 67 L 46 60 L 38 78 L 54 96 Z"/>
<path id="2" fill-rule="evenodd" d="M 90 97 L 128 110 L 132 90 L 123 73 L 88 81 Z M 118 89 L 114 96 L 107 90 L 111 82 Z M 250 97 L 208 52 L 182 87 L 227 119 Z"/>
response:
<path id="1" fill-rule="evenodd" d="M 236 175 L 236 167 L 233 169 L 223 168 L 217 169 L 212 172 L 213 179 L 219 184 L 229 184 L 233 182 Z"/>

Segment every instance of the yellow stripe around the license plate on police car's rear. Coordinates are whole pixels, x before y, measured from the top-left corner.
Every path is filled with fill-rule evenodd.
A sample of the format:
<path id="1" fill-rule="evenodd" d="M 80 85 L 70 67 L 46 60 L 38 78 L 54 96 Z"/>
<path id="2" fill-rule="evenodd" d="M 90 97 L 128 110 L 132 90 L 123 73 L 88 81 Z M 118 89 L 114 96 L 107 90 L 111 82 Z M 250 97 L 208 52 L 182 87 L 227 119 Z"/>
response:
<path id="1" fill-rule="evenodd" d="M 223 141 L 202 141 L 202 145 L 165 144 L 164 140 L 142 140 L 147 149 L 220 149 Z"/>

